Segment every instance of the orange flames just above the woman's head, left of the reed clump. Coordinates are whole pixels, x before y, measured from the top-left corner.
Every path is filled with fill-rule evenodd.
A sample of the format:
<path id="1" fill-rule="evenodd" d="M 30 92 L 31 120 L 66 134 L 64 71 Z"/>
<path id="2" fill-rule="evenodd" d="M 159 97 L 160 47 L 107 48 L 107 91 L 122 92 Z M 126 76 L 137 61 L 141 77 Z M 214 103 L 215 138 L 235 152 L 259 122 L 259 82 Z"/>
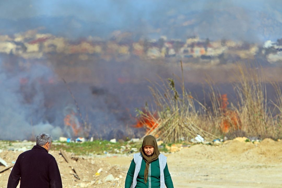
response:
<path id="1" fill-rule="evenodd" d="M 134 127 L 136 128 L 142 128 L 145 127 L 146 131 L 154 130 L 158 123 L 155 121 L 157 119 L 157 113 L 150 114 L 149 112 L 146 112 L 143 110 L 143 115 L 141 115 L 139 118 L 136 118 L 136 125 Z"/>

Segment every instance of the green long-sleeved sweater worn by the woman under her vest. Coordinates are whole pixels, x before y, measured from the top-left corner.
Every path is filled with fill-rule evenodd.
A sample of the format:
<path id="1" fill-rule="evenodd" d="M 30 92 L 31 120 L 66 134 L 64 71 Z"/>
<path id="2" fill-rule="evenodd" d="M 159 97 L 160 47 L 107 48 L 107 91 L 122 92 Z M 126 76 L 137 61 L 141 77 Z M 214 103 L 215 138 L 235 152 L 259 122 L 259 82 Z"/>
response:
<path id="1" fill-rule="evenodd" d="M 160 163 L 159 159 L 151 162 L 151 173 L 149 170 L 149 175 L 147 179 L 147 183 L 144 182 L 144 171 L 146 167 L 146 162 L 142 159 L 141 162 L 141 169 L 137 176 L 137 185 L 136 188 L 148 188 L 149 187 L 149 179 L 151 179 L 151 187 L 152 188 L 159 188 L 160 187 Z M 130 167 L 128 169 L 126 179 L 125 179 L 125 188 L 130 188 L 133 182 L 133 175 L 135 171 L 135 162 L 134 160 L 131 161 Z M 151 174 L 151 175 L 150 175 Z M 171 176 L 168 171 L 168 164 L 164 168 L 164 182 L 167 188 L 173 188 L 173 183 L 171 180 Z"/>

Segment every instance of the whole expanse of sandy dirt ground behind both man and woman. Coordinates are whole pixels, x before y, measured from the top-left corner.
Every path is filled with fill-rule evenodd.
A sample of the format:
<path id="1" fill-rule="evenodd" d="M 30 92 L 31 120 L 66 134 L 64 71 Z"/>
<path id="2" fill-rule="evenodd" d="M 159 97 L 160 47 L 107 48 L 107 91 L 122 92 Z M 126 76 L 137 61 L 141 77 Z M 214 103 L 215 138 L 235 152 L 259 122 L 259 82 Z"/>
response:
<path id="1" fill-rule="evenodd" d="M 21 152 L 2 150 L 0 157 L 11 164 Z M 63 187 L 124 187 L 133 158 L 132 154 L 86 157 L 67 153 L 73 159 L 69 164 L 59 153 L 50 150 L 58 162 Z M 175 188 L 282 187 L 282 141 L 252 143 L 236 138 L 218 146 L 197 144 L 165 155 Z M 3 168 L 0 166 L 0 171 Z M 6 187 L 9 174 L 10 170 L 0 173 L 0 188 Z"/>

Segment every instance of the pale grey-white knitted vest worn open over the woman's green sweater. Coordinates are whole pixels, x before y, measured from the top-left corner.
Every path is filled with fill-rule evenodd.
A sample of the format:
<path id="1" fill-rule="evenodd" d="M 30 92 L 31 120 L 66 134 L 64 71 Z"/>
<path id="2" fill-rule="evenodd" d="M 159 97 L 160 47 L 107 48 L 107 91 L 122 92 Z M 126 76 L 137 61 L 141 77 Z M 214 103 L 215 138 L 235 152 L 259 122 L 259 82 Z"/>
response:
<path id="1" fill-rule="evenodd" d="M 160 188 L 165 188 L 165 183 L 164 183 L 164 168 L 166 167 L 166 156 L 163 154 L 160 154 L 158 156 L 159 162 L 160 162 Z M 142 162 L 142 156 L 141 153 L 136 153 L 133 154 L 133 160 L 135 162 L 135 171 L 133 175 L 133 182 L 131 185 L 131 188 L 135 188 L 137 184 L 137 176 L 141 168 L 141 162 Z"/>

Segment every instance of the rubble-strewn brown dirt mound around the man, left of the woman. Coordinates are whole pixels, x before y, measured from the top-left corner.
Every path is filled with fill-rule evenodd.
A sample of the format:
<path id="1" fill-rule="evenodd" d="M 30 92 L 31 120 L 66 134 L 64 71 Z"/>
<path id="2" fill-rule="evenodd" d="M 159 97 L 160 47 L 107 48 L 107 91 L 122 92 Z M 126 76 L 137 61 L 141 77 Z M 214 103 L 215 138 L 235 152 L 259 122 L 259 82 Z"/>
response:
<path id="1" fill-rule="evenodd" d="M 0 153 L 0 157 L 7 163 L 15 162 L 17 156 L 22 151 L 3 151 Z M 71 166 L 74 167 L 80 180 L 74 176 L 70 164 L 66 162 L 59 151 L 51 151 L 58 163 L 63 187 L 124 187 L 126 174 L 120 171 L 117 165 L 109 165 L 103 158 L 100 157 L 85 157 L 75 156 L 71 153 L 66 153 L 71 159 Z M 0 169 L 4 166 L 0 166 Z M 100 170 L 99 170 L 100 169 Z M 97 171 L 99 173 L 96 173 Z M 10 170 L 0 173 L 0 187 L 7 186 Z M 95 175 L 96 174 L 96 175 Z M 108 176 L 108 177 L 107 177 Z"/>

